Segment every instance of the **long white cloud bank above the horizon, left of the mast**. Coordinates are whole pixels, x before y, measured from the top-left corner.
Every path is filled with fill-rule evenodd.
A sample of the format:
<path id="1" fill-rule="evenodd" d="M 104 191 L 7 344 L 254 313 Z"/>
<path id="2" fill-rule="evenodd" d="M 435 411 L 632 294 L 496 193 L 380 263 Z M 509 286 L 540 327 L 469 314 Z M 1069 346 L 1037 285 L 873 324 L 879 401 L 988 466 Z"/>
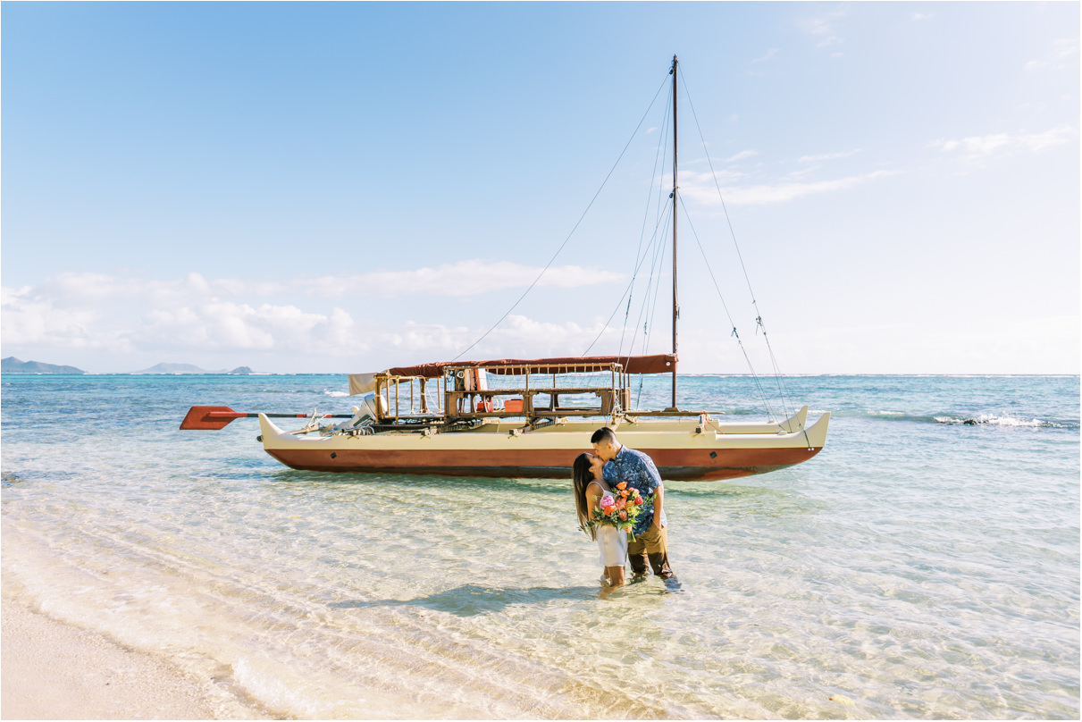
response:
<path id="1" fill-rule="evenodd" d="M 478 290 L 525 287 L 539 272 L 506 262 L 463 261 L 438 268 L 283 280 L 213 279 L 200 274 L 158 280 L 62 273 L 38 286 L 0 289 L 0 324 L 10 355 L 70 363 L 72 351 L 93 351 L 98 357 L 117 359 L 111 370 L 121 371 L 137 367 L 135 359 L 148 356 L 155 357 L 148 363 L 161 358 L 193 363 L 208 355 L 255 359 L 264 354 L 280 363 L 277 359 L 283 358 L 282 354 L 355 358 L 380 345 L 444 356 L 465 347 L 485 329 L 403 325 L 367 313 L 364 323 L 358 323 L 349 311 L 338 304 L 320 307 L 321 302 L 313 297 L 462 297 Z M 623 279 L 622 274 L 567 265 L 550 270 L 538 286 L 566 289 Z M 305 293 L 315 288 L 319 293 Z M 267 298 L 282 292 L 298 301 L 281 303 Z M 378 307 L 362 299 L 355 302 L 366 309 Z M 599 330 L 599 321 L 590 329 L 511 316 L 486 339 L 483 349 L 491 353 L 503 349 L 516 354 L 556 349 L 559 353 L 581 353 L 579 346 L 589 345 Z M 531 340 L 531 334 L 537 338 Z M 223 360 L 217 366 L 228 363 L 238 362 Z"/>

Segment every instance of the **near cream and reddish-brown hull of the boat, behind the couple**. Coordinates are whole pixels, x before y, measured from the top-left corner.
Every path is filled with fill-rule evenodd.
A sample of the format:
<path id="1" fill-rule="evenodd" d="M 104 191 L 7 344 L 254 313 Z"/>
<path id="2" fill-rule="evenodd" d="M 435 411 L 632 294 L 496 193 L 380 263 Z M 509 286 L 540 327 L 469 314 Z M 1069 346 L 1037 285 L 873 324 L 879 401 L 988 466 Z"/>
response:
<path id="1" fill-rule="evenodd" d="M 619 431 L 621 441 L 654 459 L 662 478 L 716 481 L 762 474 L 807 461 L 827 437 L 830 415 L 794 433 L 728 434 Z M 588 432 L 373 434 L 298 436 L 260 417 L 267 454 L 306 471 L 564 478 L 591 450 Z"/>

